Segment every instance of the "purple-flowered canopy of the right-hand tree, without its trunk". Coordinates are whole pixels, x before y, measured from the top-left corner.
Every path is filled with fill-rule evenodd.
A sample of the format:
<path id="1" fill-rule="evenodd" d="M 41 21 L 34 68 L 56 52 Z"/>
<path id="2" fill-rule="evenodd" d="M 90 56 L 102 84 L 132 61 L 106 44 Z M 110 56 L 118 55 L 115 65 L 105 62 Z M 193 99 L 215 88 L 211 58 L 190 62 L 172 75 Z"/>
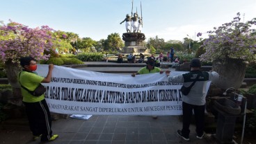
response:
<path id="1" fill-rule="evenodd" d="M 240 22 L 240 13 L 230 23 L 225 23 L 214 30 L 208 31 L 209 38 L 205 39 L 202 47 L 205 53 L 200 56 L 202 61 L 214 61 L 218 59 L 241 59 L 251 62 L 256 60 L 256 18 L 245 23 Z M 201 36 L 202 33 L 198 33 Z"/>

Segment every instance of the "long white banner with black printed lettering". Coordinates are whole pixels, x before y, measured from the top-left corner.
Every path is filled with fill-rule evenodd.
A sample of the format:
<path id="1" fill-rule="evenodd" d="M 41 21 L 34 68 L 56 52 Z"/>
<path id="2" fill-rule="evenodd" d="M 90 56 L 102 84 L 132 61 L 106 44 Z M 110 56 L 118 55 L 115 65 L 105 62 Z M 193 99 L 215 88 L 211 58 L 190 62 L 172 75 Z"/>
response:
<path id="1" fill-rule="evenodd" d="M 46 77 L 48 65 L 38 64 Z M 172 71 L 178 75 L 181 71 Z M 52 112 L 93 115 L 181 115 L 182 84 L 168 83 L 165 73 L 131 75 L 54 66 L 45 98 Z"/>

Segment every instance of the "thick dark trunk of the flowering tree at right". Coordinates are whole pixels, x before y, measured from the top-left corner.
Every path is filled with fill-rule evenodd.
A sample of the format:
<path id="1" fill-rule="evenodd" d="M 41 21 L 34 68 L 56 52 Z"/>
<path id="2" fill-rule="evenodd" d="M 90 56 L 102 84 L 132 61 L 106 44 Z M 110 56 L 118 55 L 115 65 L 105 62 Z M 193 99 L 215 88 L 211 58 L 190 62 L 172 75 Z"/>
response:
<path id="1" fill-rule="evenodd" d="M 243 60 L 226 58 L 225 60 L 215 60 L 212 68 L 220 78 L 214 81 L 216 87 L 227 89 L 234 87 L 239 89 L 246 74 L 246 63 Z"/>

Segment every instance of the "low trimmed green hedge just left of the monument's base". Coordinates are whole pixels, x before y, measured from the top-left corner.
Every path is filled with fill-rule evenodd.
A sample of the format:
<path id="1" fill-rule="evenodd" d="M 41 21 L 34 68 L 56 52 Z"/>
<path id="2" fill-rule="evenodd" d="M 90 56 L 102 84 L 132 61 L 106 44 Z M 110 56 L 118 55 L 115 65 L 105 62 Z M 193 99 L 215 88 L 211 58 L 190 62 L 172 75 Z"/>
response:
<path id="1" fill-rule="evenodd" d="M 102 53 L 79 53 L 77 59 L 83 62 L 99 62 L 102 61 L 104 55 Z"/>

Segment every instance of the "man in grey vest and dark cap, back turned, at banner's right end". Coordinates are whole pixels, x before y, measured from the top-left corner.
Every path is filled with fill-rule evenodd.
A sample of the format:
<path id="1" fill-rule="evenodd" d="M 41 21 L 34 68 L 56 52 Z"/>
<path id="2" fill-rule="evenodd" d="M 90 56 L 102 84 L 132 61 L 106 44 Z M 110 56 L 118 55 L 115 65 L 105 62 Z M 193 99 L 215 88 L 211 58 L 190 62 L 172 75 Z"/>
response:
<path id="1" fill-rule="evenodd" d="M 185 141 L 189 141 L 189 125 L 194 111 L 195 114 L 195 132 L 197 138 L 202 138 L 204 134 L 205 122 L 205 97 L 207 95 L 206 85 L 208 81 L 217 80 L 218 73 L 200 71 L 201 62 L 193 58 L 190 62 L 191 71 L 182 75 L 170 76 L 170 71 L 166 71 L 168 82 L 184 83 L 184 87 L 189 87 L 194 81 L 193 87 L 187 96 L 182 94 L 182 130 L 177 130 L 177 134 Z"/>

